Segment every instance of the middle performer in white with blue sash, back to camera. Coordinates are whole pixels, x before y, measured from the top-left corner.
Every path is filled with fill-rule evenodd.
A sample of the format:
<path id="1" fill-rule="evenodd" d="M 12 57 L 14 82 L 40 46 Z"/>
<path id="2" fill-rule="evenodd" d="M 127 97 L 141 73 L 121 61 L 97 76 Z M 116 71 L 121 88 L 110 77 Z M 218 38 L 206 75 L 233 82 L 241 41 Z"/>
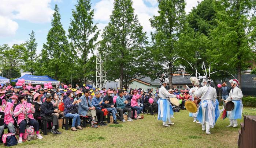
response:
<path id="1" fill-rule="evenodd" d="M 213 82 L 211 79 L 203 79 L 203 87 L 196 87 L 192 93 L 196 97 L 201 97 L 201 104 L 199 107 L 199 113 L 197 114 L 197 120 L 202 124 L 202 131 L 206 134 L 211 134 L 210 128 L 215 125 L 215 101 L 216 101 L 216 89 L 211 87 L 210 84 Z"/>

